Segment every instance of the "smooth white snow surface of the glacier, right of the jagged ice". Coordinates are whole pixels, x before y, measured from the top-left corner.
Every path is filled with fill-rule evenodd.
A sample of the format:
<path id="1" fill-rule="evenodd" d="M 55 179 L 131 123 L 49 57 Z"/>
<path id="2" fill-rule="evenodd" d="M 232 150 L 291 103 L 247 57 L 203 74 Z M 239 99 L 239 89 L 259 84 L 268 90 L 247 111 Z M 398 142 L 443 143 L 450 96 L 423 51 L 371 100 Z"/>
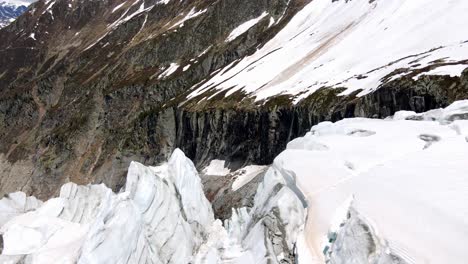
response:
<path id="1" fill-rule="evenodd" d="M 408 263 L 467 259 L 468 121 L 450 121 L 460 114 L 468 100 L 395 119 L 324 122 L 289 143 L 274 164 L 294 173 L 307 198 L 309 253 L 322 258 L 353 196 L 353 207 Z M 405 120 L 412 116 L 426 121 Z"/>

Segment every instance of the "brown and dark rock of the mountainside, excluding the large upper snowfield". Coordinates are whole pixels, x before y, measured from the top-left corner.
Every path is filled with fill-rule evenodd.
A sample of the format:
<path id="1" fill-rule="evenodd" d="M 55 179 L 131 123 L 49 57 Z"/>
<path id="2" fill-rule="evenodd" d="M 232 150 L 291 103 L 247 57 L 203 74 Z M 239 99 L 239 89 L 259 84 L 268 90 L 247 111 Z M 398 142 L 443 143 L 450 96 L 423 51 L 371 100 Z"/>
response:
<path id="1" fill-rule="evenodd" d="M 196 92 L 269 48 L 309 5 L 35 3 L 0 30 L 0 194 L 22 190 L 45 199 L 69 181 L 104 182 L 118 190 L 130 161 L 158 164 L 176 147 L 198 167 L 213 158 L 269 164 L 319 121 L 420 112 L 467 97 L 466 72 L 413 79 L 416 71 L 408 69 L 359 96 L 340 95 L 344 85 L 323 85 L 300 100 L 288 93 L 259 99 L 216 87 Z M 433 68 L 447 63 L 465 65 L 439 61 Z"/>

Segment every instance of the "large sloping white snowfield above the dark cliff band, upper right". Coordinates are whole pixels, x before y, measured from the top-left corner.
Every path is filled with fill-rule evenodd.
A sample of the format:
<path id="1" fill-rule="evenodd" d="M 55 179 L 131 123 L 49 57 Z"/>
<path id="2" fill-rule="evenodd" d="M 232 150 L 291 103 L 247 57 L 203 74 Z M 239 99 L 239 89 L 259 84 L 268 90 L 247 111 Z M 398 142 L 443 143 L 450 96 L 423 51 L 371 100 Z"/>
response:
<path id="1" fill-rule="evenodd" d="M 369 2 L 311 1 L 272 40 L 226 66 L 190 98 L 211 88 L 230 89 L 226 95 L 242 89 L 257 100 L 291 94 L 296 102 L 321 87 L 346 87 L 344 94 L 363 89 L 364 95 L 395 69 L 468 59 L 468 1 Z M 228 40 L 256 22 L 242 25 Z M 460 74 L 463 67 L 431 73 Z"/>

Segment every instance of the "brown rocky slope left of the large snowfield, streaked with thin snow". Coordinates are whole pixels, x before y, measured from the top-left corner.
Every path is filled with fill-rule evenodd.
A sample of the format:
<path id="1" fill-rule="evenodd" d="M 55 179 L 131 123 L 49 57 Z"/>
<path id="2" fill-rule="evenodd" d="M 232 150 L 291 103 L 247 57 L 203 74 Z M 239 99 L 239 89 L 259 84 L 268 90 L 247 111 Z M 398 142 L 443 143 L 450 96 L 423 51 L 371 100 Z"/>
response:
<path id="1" fill-rule="evenodd" d="M 121 157 L 142 115 L 252 53 L 302 5 L 283 0 L 35 3 L 0 31 L 5 40 L 0 43 L 1 193 L 22 189 L 45 198 L 68 181 L 106 181 L 115 187 L 129 159 L 153 156 L 141 150 Z M 237 26 L 264 12 L 278 23 L 269 25 L 265 18 L 225 41 Z M 174 133 L 170 127 L 164 131 Z M 157 153 L 165 157 L 171 150 Z M 151 158 L 157 162 L 162 156 Z M 90 176 L 96 170 L 102 178 Z"/>

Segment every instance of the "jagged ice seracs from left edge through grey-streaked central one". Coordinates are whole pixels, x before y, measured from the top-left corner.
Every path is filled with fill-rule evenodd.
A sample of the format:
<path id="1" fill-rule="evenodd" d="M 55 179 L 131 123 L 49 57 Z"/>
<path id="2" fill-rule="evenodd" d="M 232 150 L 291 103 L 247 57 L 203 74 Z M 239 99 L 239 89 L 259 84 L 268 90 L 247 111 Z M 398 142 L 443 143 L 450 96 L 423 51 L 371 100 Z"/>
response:
<path id="1" fill-rule="evenodd" d="M 214 219 L 198 173 L 180 150 L 158 167 L 133 162 L 118 194 L 102 184 L 74 183 L 65 184 L 59 197 L 44 203 L 13 193 L 0 200 L 0 263 L 285 259 L 305 220 L 303 201 L 288 184 L 271 169 L 259 187 L 256 207 L 235 210 L 226 228 Z"/>

